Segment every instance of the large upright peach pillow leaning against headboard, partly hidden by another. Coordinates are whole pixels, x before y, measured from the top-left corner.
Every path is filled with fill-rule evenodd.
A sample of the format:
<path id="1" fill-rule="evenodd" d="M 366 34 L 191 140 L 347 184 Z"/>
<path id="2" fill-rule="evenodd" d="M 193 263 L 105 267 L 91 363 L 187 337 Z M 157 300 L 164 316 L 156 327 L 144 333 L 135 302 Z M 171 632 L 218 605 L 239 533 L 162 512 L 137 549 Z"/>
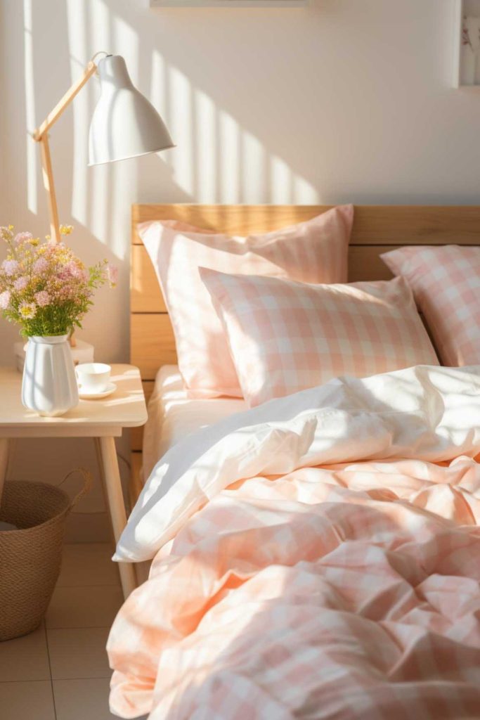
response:
<path id="1" fill-rule="evenodd" d="M 199 267 L 309 283 L 345 282 L 352 224 L 353 206 L 344 205 L 307 222 L 247 238 L 172 221 L 138 226 L 170 313 L 178 366 L 190 397 L 242 397 Z"/>

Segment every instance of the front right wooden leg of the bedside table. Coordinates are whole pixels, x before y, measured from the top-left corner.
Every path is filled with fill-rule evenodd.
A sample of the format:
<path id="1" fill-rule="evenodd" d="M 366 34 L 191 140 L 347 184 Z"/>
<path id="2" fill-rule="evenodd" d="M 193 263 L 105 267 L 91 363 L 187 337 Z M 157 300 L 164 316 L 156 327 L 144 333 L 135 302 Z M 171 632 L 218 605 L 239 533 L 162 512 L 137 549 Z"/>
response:
<path id="1" fill-rule="evenodd" d="M 117 542 L 124 526 L 127 524 L 127 513 L 125 512 L 117 449 L 115 448 L 114 438 L 99 438 L 99 444 L 109 512 L 112 518 L 115 542 Z M 131 562 L 120 562 L 119 572 L 123 595 L 124 598 L 127 598 L 132 590 L 135 590 L 137 587 L 135 567 Z"/>

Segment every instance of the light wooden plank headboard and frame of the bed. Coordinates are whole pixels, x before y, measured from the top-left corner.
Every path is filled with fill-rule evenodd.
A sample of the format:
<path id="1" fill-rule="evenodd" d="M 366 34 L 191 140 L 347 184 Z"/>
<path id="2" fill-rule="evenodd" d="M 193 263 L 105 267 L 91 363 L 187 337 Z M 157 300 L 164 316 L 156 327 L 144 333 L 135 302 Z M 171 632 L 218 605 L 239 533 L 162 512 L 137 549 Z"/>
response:
<path id="1" fill-rule="evenodd" d="M 266 233 L 309 220 L 330 205 L 132 206 L 130 359 L 140 367 L 145 396 L 160 366 L 176 363 L 175 341 L 153 266 L 137 233 L 137 223 L 181 220 L 227 235 Z M 350 240 L 349 281 L 384 280 L 391 273 L 379 257 L 404 245 L 480 245 L 480 206 L 365 205 L 355 207 Z M 142 487 L 142 428 L 132 432 L 130 502 Z"/>

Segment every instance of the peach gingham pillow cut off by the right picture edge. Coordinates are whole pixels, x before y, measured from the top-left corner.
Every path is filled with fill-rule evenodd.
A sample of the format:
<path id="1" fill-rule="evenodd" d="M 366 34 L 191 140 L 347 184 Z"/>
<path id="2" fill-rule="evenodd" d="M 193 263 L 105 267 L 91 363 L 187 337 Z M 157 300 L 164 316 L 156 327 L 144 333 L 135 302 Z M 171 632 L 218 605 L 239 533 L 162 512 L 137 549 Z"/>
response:
<path id="1" fill-rule="evenodd" d="M 407 279 L 442 363 L 480 364 L 480 248 L 407 246 L 381 258 Z"/>

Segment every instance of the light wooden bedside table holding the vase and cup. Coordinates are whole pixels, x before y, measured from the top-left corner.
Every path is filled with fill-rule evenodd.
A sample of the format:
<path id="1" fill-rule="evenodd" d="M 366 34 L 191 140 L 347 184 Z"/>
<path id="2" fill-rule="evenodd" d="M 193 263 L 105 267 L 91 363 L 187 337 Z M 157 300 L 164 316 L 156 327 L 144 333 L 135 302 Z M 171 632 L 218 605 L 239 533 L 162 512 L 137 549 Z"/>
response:
<path id="1" fill-rule="evenodd" d="M 76 408 L 59 418 L 43 418 L 22 405 L 22 375 L 14 368 L 0 367 L 0 498 L 12 438 L 93 438 L 101 479 L 117 542 L 127 523 L 122 483 L 114 438 L 123 428 L 135 428 L 147 421 L 147 408 L 138 368 L 112 365 L 112 382 L 117 390 L 104 400 L 80 400 Z M 135 567 L 119 563 L 124 597 L 136 587 Z"/>

